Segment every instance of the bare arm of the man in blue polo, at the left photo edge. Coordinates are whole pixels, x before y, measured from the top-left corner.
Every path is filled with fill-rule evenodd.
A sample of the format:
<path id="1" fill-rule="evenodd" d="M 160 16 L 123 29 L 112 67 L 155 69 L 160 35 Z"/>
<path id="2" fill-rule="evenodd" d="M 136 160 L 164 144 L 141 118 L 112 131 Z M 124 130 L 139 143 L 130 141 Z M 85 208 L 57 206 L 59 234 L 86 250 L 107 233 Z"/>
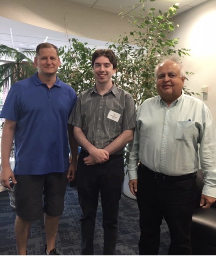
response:
<path id="1" fill-rule="evenodd" d="M 16 128 L 16 121 L 5 119 L 1 136 L 1 172 L 0 181 L 2 186 L 11 189 L 9 179 L 16 184 L 13 171 L 10 166 L 10 154 L 13 144 L 13 137 Z"/>

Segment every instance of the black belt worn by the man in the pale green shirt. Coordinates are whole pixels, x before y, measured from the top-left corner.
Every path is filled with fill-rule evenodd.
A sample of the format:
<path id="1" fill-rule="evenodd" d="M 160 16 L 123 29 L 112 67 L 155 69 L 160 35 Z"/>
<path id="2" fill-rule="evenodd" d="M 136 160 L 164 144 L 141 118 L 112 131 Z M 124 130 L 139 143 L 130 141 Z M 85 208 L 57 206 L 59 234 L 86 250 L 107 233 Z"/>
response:
<path id="1" fill-rule="evenodd" d="M 180 176 L 169 176 L 160 172 L 155 172 L 150 170 L 148 167 L 146 167 L 144 164 L 140 163 L 140 166 L 145 169 L 145 171 L 150 171 L 154 174 L 154 178 L 164 181 L 164 182 L 176 182 L 176 181 L 186 181 L 188 179 L 191 179 L 195 176 L 197 176 L 197 172 L 185 174 L 185 175 L 180 175 Z"/>

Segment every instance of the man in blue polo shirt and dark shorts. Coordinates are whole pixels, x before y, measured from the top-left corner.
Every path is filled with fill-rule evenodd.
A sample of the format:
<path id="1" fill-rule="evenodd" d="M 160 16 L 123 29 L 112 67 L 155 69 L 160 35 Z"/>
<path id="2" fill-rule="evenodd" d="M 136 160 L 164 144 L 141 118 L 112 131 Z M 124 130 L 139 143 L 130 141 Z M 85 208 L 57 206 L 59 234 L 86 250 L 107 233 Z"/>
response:
<path id="1" fill-rule="evenodd" d="M 15 236 L 19 255 L 26 255 L 31 221 L 45 213 L 44 255 L 59 255 L 55 238 L 59 216 L 64 209 L 67 181 L 76 171 L 77 142 L 70 138 L 72 162 L 69 165 L 67 121 L 77 96 L 60 81 L 58 49 L 50 43 L 37 46 L 34 61 L 38 72 L 11 86 L 1 118 L 5 118 L 1 139 L 0 181 L 6 188 L 14 185 Z M 15 141 L 15 167 L 9 156 Z M 44 202 L 42 203 L 42 195 Z"/>

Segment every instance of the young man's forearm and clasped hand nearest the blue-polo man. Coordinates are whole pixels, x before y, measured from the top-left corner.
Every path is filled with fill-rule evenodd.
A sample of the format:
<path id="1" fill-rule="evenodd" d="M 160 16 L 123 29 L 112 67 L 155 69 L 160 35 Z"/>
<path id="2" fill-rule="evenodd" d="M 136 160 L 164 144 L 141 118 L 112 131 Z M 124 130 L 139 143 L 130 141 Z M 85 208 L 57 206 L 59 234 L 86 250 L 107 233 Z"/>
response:
<path id="1" fill-rule="evenodd" d="M 74 126 L 74 137 L 79 145 L 89 152 L 92 164 L 104 163 L 109 159 L 109 153 L 104 149 L 97 149 L 93 146 L 81 128 Z M 84 162 L 88 165 L 85 160 Z"/>

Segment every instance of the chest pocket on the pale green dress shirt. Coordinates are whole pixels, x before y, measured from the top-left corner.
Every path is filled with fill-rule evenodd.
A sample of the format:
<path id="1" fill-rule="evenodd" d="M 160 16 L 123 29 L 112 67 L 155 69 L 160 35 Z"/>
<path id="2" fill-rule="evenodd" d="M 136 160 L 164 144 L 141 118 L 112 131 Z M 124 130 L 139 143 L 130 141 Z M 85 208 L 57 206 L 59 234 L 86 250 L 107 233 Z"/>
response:
<path id="1" fill-rule="evenodd" d="M 194 127 L 195 127 L 195 122 L 178 121 L 176 126 L 176 139 L 191 141 L 193 137 Z"/>

